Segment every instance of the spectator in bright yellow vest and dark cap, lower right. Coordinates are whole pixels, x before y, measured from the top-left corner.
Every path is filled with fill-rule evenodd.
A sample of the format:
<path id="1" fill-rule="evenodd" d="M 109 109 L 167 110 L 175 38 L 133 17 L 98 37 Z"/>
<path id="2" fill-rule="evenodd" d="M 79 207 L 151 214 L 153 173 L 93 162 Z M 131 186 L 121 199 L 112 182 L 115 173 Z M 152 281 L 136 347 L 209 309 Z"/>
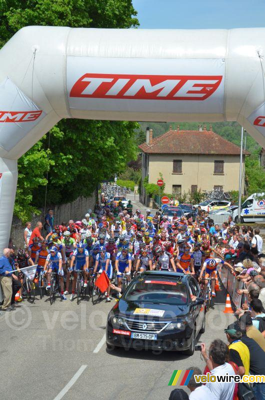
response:
<path id="1" fill-rule="evenodd" d="M 249 374 L 250 354 L 247 346 L 242 342 L 242 333 L 235 329 L 224 329 L 228 340 L 228 358 L 238 366 L 238 375 Z"/>

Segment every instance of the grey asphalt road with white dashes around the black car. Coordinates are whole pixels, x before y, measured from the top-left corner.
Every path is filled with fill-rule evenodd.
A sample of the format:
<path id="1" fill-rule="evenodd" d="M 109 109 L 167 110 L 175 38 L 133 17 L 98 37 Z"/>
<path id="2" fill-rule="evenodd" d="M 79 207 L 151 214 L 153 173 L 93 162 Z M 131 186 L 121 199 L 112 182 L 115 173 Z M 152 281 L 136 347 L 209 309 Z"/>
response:
<path id="1" fill-rule="evenodd" d="M 77 305 L 76 299 L 57 298 L 50 305 L 47 297 L 40 300 L 37 295 L 34 304 L 23 301 L 1 316 L 0 398 L 163 400 L 174 388 L 167 386 L 174 369 L 193 365 L 203 370 L 199 351 L 188 357 L 106 350 L 105 323 L 114 303 L 92 305 L 87 299 Z M 223 329 L 234 317 L 222 312 L 224 303 L 223 292 L 218 292 L 198 342 L 208 346 L 214 338 L 226 339 Z"/>

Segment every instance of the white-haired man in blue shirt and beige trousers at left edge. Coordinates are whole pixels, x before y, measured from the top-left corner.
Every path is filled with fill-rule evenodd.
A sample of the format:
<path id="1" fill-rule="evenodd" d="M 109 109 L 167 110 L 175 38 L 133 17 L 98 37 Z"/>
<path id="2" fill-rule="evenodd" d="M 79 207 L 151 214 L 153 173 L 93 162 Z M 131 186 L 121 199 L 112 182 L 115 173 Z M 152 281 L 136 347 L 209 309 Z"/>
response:
<path id="1" fill-rule="evenodd" d="M 0 282 L 3 290 L 4 300 L 1 311 L 11 311 L 14 309 L 14 296 L 21 287 L 17 276 L 13 273 L 13 268 L 8 257 L 11 255 L 10 248 L 3 249 L 0 257 Z"/>

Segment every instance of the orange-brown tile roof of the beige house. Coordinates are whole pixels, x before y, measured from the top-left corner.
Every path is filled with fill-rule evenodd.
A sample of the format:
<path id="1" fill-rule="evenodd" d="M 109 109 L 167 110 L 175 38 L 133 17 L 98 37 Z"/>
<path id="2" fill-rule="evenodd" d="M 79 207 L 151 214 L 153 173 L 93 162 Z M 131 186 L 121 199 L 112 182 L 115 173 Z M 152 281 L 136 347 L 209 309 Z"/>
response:
<path id="1" fill-rule="evenodd" d="M 138 146 L 145 153 L 240 154 L 240 147 L 212 130 L 171 130 Z M 249 154 L 243 150 L 243 154 Z"/>

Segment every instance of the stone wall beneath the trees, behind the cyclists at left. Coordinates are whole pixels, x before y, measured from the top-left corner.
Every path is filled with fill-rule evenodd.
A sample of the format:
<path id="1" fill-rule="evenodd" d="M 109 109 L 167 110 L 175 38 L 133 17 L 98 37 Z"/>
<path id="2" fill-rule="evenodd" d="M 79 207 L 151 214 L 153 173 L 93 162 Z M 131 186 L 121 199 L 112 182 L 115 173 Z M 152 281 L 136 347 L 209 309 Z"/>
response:
<path id="1" fill-rule="evenodd" d="M 60 224 L 61 222 L 68 222 L 69 219 L 73 219 L 74 221 L 80 220 L 84 217 L 84 214 L 87 212 L 89 208 L 93 210 L 94 204 L 96 201 L 96 191 L 93 192 L 92 196 L 84 198 L 84 197 L 78 197 L 76 200 L 70 202 L 70 203 L 65 203 L 65 204 L 60 204 L 60 205 L 55 205 L 55 206 L 50 206 L 50 208 L 54 209 L 54 224 Z M 47 212 L 46 207 L 46 212 Z M 41 221 L 43 223 L 43 218 L 44 218 L 44 210 L 42 210 L 41 214 L 39 215 L 32 215 L 32 218 L 30 220 L 31 222 L 31 228 L 35 227 L 35 224 L 37 221 Z M 10 237 L 12 238 L 13 244 L 15 245 L 16 248 L 24 246 L 23 242 L 23 231 L 24 231 L 25 226 L 22 224 L 20 219 L 18 219 L 16 216 L 13 216 L 12 219 L 12 226 L 11 226 L 11 233 Z M 44 234 L 46 234 L 44 232 Z"/>

